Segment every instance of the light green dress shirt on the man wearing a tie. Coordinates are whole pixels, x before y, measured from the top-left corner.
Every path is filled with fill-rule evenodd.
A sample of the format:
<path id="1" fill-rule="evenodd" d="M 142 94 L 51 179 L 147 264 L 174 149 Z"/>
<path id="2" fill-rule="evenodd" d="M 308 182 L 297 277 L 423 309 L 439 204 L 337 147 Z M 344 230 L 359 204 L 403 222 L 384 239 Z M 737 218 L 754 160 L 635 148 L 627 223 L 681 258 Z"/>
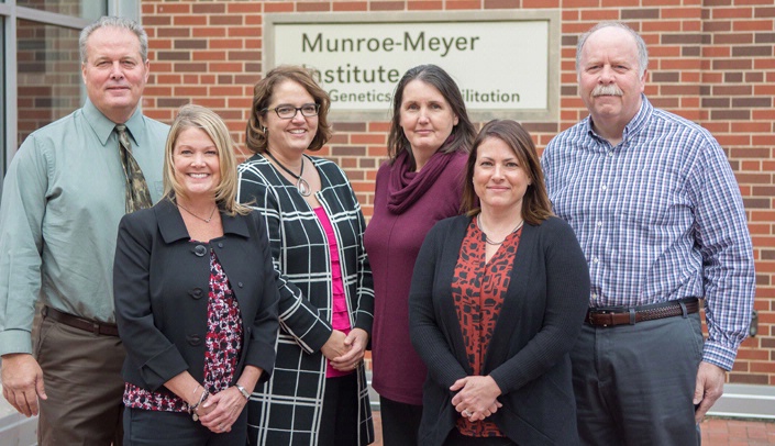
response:
<path id="1" fill-rule="evenodd" d="M 169 126 L 140 110 L 125 124 L 156 202 Z M 66 313 L 115 322 L 113 256 L 125 180 L 114 127 L 87 100 L 32 133 L 13 157 L 0 201 L 0 355 L 32 353 L 38 297 Z"/>

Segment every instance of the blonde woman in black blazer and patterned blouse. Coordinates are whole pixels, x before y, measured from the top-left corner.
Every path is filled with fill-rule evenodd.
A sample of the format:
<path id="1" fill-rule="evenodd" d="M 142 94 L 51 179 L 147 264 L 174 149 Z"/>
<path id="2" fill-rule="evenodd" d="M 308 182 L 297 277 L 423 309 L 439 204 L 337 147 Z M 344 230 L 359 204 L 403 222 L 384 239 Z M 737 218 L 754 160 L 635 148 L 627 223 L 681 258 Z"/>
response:
<path id="1" fill-rule="evenodd" d="M 215 113 L 180 109 L 164 185 L 119 227 L 124 445 L 245 444 L 243 409 L 275 363 L 277 289 L 263 219 L 234 200 L 233 143 Z"/>

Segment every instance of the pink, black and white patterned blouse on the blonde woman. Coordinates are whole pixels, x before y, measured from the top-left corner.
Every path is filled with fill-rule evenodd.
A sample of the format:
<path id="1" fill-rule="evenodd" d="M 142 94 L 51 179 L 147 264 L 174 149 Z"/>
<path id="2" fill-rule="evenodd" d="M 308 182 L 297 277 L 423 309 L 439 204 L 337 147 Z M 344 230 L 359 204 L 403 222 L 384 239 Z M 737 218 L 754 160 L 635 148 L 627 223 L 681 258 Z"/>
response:
<path id="1" fill-rule="evenodd" d="M 204 338 L 204 382 L 211 393 L 229 388 L 242 350 L 242 316 L 215 253 L 210 249 L 210 293 L 208 296 L 208 333 Z M 124 384 L 124 405 L 133 409 L 188 412 L 188 403 L 162 387 L 157 391 Z"/>

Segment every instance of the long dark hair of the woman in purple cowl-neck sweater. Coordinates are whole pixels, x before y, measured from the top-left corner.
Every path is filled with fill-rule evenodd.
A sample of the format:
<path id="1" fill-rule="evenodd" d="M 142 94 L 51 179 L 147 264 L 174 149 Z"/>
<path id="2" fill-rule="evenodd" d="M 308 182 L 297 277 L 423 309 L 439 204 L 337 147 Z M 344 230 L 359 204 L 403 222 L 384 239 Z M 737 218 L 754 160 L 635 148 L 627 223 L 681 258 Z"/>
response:
<path id="1" fill-rule="evenodd" d="M 407 150 L 409 153 L 409 159 L 411 160 L 411 170 L 416 168 L 409 140 L 407 140 L 407 136 L 403 134 L 403 129 L 401 129 L 403 89 L 407 87 L 407 83 L 412 80 L 421 80 L 439 90 L 441 96 L 444 97 L 444 100 L 450 104 L 450 108 L 452 108 L 452 113 L 457 116 L 457 125 L 452 127 L 453 140 L 444 147 L 444 153 L 468 153 L 470 150 L 470 144 L 476 136 L 476 127 L 474 127 L 474 124 L 472 124 L 468 119 L 465 102 L 461 96 L 461 89 L 457 88 L 457 83 L 455 83 L 452 77 L 442 68 L 430 64 L 419 65 L 414 68 L 410 68 L 403 75 L 401 80 L 398 81 L 392 96 L 392 121 L 390 123 L 390 133 L 388 133 L 388 156 L 390 157 L 390 163 L 396 160 L 396 157 L 398 157 L 401 150 Z"/>

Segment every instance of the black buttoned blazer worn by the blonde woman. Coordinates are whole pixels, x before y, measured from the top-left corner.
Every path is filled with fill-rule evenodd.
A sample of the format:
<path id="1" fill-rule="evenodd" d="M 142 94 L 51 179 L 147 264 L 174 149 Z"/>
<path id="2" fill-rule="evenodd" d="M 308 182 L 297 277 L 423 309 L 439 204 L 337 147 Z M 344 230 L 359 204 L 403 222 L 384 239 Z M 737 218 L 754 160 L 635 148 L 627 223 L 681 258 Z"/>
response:
<path id="1" fill-rule="evenodd" d="M 190 242 L 177 207 L 162 199 L 124 215 L 113 266 L 115 320 L 126 348 L 124 380 L 157 391 L 188 370 L 204 373 L 210 249 L 215 252 L 240 305 L 243 345 L 234 382 L 245 365 L 275 364 L 277 287 L 264 219 L 221 212 L 223 236 Z"/>

